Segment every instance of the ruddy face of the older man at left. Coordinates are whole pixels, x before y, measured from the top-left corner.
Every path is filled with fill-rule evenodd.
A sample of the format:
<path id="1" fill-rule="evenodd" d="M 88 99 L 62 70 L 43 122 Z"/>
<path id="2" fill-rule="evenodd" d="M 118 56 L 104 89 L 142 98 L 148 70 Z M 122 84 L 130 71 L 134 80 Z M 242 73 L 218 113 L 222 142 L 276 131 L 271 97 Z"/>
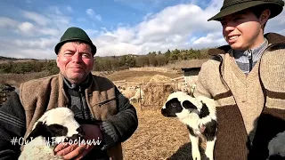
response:
<path id="1" fill-rule="evenodd" d="M 61 46 L 56 63 L 71 84 L 79 84 L 93 69 L 94 57 L 88 44 L 69 42 Z"/>

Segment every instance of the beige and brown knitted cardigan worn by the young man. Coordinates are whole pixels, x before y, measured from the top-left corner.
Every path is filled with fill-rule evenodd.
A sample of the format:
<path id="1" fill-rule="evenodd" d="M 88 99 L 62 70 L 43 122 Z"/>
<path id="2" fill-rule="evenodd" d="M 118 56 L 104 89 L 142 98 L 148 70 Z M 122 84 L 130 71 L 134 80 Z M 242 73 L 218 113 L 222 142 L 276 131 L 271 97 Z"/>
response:
<path id="1" fill-rule="evenodd" d="M 265 38 L 269 45 L 248 76 L 229 45 L 209 50 L 214 58 L 199 72 L 194 96 L 216 101 L 216 160 L 266 159 L 268 141 L 285 131 L 285 37 Z"/>

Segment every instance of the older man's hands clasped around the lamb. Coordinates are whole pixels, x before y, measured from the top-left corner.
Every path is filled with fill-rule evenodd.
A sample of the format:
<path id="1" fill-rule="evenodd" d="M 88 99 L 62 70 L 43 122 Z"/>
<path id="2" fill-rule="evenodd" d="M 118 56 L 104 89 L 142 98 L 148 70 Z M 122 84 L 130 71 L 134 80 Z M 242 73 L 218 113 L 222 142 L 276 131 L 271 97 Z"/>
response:
<path id="1" fill-rule="evenodd" d="M 82 124 L 83 131 L 85 132 L 85 140 L 102 140 L 102 131 L 98 125 Z M 79 141 L 81 142 L 81 141 Z M 94 144 L 69 144 L 60 143 L 54 148 L 55 155 L 63 156 L 64 159 L 75 158 L 81 159 L 94 148 Z"/>

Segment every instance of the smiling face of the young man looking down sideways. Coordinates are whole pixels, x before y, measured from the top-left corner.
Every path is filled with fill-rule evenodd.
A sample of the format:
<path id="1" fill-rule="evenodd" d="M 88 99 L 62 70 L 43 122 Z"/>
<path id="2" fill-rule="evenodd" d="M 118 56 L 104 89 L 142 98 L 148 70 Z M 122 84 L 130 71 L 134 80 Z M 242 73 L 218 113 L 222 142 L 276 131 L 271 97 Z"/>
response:
<path id="1" fill-rule="evenodd" d="M 221 20 L 225 41 L 234 50 L 248 50 L 264 42 L 262 25 L 266 20 L 259 20 L 250 11 L 233 13 Z"/>

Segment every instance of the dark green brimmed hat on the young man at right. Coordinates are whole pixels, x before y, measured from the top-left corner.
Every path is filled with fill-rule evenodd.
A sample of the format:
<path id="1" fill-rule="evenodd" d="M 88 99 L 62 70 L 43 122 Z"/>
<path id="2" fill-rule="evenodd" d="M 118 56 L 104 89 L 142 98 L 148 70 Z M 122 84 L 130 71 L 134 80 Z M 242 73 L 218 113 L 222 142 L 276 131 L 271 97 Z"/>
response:
<path id="1" fill-rule="evenodd" d="M 230 15 L 234 12 L 240 12 L 242 10 L 255 7 L 257 5 L 264 5 L 265 8 L 271 11 L 269 19 L 277 16 L 283 10 L 284 1 L 282 0 L 224 0 L 224 4 L 214 17 L 209 20 L 220 20 L 224 16 Z M 208 21 L 209 21 L 208 20 Z"/>

